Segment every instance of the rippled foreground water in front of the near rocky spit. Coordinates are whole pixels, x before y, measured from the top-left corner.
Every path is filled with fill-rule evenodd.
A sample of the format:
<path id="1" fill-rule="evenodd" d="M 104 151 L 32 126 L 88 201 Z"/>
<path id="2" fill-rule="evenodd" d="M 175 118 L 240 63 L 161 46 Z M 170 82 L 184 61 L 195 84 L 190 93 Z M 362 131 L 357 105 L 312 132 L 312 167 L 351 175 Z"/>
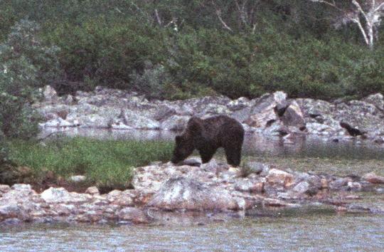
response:
<path id="1" fill-rule="evenodd" d="M 383 251 L 384 216 L 309 211 L 205 226 L 0 229 L 0 251 Z"/>

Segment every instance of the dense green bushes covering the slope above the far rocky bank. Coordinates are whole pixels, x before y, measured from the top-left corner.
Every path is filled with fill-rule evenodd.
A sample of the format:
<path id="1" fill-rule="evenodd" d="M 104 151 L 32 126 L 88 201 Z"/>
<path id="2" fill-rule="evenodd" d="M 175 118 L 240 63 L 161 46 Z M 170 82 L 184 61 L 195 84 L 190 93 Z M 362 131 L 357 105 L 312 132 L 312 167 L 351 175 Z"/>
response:
<path id="1" fill-rule="evenodd" d="M 43 26 L 43 41 L 60 48 L 52 48 L 64 73 L 53 83 L 60 93 L 95 85 L 160 99 L 214 93 L 252 98 L 284 90 L 291 97 L 330 100 L 384 92 L 383 44 L 369 50 L 358 31 L 334 31 L 323 19 L 325 9 L 303 1 L 260 1 L 255 31 L 238 24 L 232 1 L 216 1 L 223 2 L 223 19 L 233 32 L 223 28 L 214 6 L 201 1 L 28 1 L 24 9 L 23 1 L 7 2 L 5 23 L 28 15 Z M 27 51 L 39 73 L 59 75 L 57 58 L 44 55 L 46 49 L 37 53 L 44 64 Z"/>

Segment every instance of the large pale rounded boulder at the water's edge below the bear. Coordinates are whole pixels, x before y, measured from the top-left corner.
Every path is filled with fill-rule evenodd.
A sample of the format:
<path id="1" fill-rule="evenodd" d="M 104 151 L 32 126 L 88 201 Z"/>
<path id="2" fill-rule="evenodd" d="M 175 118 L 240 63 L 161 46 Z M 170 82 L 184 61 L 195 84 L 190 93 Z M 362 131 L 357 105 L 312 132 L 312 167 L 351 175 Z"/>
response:
<path id="1" fill-rule="evenodd" d="M 240 209 L 238 202 L 227 190 L 208 187 L 206 184 L 186 177 L 169 179 L 154 194 L 148 206 L 169 211 L 228 211 Z"/>

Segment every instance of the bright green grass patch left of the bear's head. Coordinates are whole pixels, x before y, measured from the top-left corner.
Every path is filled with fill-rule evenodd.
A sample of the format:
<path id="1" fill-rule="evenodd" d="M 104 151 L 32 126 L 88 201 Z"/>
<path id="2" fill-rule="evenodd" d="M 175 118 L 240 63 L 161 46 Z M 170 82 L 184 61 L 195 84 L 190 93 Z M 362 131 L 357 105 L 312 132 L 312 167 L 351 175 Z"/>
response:
<path id="1" fill-rule="evenodd" d="M 37 182 L 53 174 L 59 180 L 83 174 L 85 184 L 98 187 L 126 188 L 134 167 L 171 158 L 171 142 L 133 140 L 92 140 L 82 137 L 48 142 L 11 142 L 11 159 L 31 169 Z M 50 175 L 52 176 L 52 175 Z"/>

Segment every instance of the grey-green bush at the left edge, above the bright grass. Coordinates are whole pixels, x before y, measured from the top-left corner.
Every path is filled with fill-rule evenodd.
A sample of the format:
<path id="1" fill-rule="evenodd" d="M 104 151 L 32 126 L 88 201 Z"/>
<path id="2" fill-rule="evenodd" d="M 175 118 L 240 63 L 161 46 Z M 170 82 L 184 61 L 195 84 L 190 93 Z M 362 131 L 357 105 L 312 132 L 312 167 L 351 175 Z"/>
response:
<path id="1" fill-rule="evenodd" d="M 38 132 L 38 116 L 31 103 L 37 88 L 58 77 L 57 48 L 36 37 L 38 25 L 22 20 L 0 44 L 0 131 L 5 137 L 28 139 Z"/>

